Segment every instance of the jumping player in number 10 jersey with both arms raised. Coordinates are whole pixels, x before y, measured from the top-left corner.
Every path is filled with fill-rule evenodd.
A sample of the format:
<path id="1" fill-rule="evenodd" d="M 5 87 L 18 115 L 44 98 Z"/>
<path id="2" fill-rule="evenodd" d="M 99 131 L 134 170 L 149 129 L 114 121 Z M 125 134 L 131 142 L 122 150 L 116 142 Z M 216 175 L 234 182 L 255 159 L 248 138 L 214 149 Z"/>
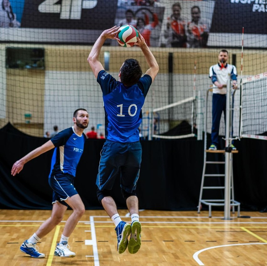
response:
<path id="1" fill-rule="evenodd" d="M 116 37 L 118 32 L 117 26 L 104 30 L 92 47 L 87 61 L 100 84 L 105 110 L 107 140 L 101 151 L 96 182 L 97 197 L 115 224 L 118 253 L 123 253 L 128 247 L 128 251 L 133 254 L 141 246 L 141 224 L 138 198 L 135 193 L 142 154 L 138 128 L 142 122 L 141 108 L 145 96 L 158 74 L 159 66 L 143 36 L 138 32 L 139 38 L 135 45 L 143 52 L 149 69 L 141 77 L 142 70 L 139 62 L 135 59 L 127 59 L 121 66 L 119 80 L 116 81 L 104 70 L 98 58 L 105 40 L 118 40 Z M 131 225 L 121 220 L 116 203 L 111 197 L 111 190 L 117 176 L 120 177 L 122 195 L 131 215 Z"/>

